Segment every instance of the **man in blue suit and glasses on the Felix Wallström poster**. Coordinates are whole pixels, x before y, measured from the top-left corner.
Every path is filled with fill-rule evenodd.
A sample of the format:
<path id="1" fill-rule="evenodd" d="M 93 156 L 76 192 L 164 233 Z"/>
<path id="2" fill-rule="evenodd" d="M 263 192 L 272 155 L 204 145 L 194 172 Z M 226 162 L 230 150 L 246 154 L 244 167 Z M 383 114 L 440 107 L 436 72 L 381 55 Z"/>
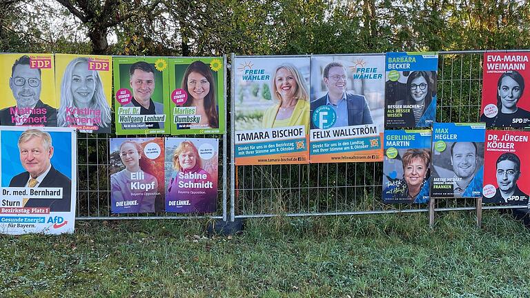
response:
<path id="1" fill-rule="evenodd" d="M 328 89 L 328 93 L 319 99 L 311 101 L 311 119 L 313 119 L 313 112 L 316 108 L 330 106 L 335 110 L 337 116 L 335 124 L 331 127 L 373 123 L 370 108 L 364 96 L 346 92 L 348 76 L 342 63 L 328 63 L 324 68 L 322 80 Z M 313 121 L 311 121 L 311 128 L 317 128 Z"/>

